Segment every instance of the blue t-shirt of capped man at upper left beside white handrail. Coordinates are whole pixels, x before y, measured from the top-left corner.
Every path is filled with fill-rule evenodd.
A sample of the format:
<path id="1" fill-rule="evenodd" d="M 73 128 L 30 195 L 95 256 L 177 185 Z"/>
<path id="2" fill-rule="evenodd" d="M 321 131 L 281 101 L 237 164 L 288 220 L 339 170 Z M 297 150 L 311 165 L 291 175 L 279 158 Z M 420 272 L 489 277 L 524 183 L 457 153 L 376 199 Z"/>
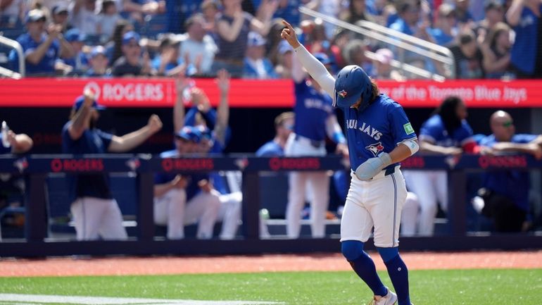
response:
<path id="1" fill-rule="evenodd" d="M 39 42 L 34 41 L 32 37 L 28 33 L 25 33 L 23 35 L 20 35 L 17 39 L 17 42 L 20 43 L 21 46 L 23 46 L 23 51 L 25 52 L 25 56 L 32 53 L 33 51 L 36 51 L 37 47 L 45 42 L 45 39 L 47 36 L 44 34 L 42 35 L 42 39 L 39 40 Z M 35 74 L 54 74 L 55 73 L 55 63 L 58 60 L 58 57 L 60 56 L 60 43 L 58 40 L 53 40 L 51 45 L 49 46 L 49 49 L 45 52 L 43 58 L 39 63 L 33 64 L 29 61 L 25 61 L 26 65 L 26 74 L 27 75 L 35 75 Z M 9 60 L 13 66 L 14 70 L 18 70 L 18 59 L 19 56 L 17 55 L 17 52 L 14 50 L 11 51 L 9 54 Z"/>

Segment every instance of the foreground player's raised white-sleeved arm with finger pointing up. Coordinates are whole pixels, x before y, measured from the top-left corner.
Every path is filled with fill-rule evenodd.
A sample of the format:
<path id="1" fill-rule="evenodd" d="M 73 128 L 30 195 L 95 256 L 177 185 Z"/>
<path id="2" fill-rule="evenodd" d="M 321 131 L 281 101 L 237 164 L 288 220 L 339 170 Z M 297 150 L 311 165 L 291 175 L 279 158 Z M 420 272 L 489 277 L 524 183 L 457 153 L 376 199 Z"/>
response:
<path id="1" fill-rule="evenodd" d="M 305 46 L 297 39 L 296 31 L 289 23 L 282 20 L 282 23 L 286 26 L 281 32 L 281 37 L 294 48 L 296 56 L 301 62 L 301 65 L 307 70 L 320 86 L 329 94 L 330 97 L 334 96 L 335 78 L 327 72 L 327 69 L 315 56 L 309 53 Z"/>

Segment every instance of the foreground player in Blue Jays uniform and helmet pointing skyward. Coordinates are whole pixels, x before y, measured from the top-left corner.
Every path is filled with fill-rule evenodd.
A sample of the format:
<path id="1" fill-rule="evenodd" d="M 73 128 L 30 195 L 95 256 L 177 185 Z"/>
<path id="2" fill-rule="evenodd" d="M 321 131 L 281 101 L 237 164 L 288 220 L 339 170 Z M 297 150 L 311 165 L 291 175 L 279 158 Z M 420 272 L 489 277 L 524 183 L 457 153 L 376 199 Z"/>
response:
<path id="1" fill-rule="evenodd" d="M 351 187 L 341 218 L 341 251 L 374 293 L 373 304 L 410 305 L 408 269 L 398 251 L 401 208 L 407 190 L 399 162 L 418 150 L 417 137 L 401 105 L 379 94 L 359 66 L 346 66 L 335 78 L 299 43 L 283 21 L 286 39 L 313 79 L 344 111 L 351 163 Z M 297 114 L 296 114 L 297 116 Z M 397 294 L 382 284 L 374 262 L 363 251 L 374 227 L 377 247 Z"/>

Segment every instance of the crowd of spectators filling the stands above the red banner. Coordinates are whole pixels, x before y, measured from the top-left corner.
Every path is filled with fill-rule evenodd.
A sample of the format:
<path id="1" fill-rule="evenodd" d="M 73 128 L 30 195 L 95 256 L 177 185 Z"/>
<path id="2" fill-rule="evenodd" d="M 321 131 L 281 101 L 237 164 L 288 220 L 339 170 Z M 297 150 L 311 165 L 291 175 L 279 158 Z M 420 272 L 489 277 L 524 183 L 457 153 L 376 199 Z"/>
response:
<path id="1" fill-rule="evenodd" d="M 446 46 L 453 73 L 415 52 L 301 15 L 299 6 Z M 332 58 L 334 70 L 358 64 L 378 79 L 415 77 L 390 66 L 397 58 L 459 79 L 538 78 L 541 39 L 530 37 L 540 32 L 540 6 L 538 0 L 3 0 L 0 32 L 23 46 L 28 76 L 162 76 L 187 66 L 188 75 L 227 68 L 233 77 L 289 78 L 291 49 L 279 37 L 284 19 L 298 27 L 309 51 Z M 17 70 L 17 54 L 0 64 Z"/>

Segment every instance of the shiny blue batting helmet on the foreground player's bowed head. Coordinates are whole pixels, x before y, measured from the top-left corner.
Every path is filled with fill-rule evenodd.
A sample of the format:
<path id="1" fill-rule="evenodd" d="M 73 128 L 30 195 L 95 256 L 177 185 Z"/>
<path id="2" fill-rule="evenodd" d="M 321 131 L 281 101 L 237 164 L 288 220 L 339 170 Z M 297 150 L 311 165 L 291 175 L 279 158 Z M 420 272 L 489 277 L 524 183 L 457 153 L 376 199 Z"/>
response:
<path id="1" fill-rule="evenodd" d="M 356 65 L 346 66 L 339 71 L 335 80 L 335 101 L 341 108 L 350 108 L 361 97 L 359 110 L 369 106 L 372 85 L 367 73 Z"/>

